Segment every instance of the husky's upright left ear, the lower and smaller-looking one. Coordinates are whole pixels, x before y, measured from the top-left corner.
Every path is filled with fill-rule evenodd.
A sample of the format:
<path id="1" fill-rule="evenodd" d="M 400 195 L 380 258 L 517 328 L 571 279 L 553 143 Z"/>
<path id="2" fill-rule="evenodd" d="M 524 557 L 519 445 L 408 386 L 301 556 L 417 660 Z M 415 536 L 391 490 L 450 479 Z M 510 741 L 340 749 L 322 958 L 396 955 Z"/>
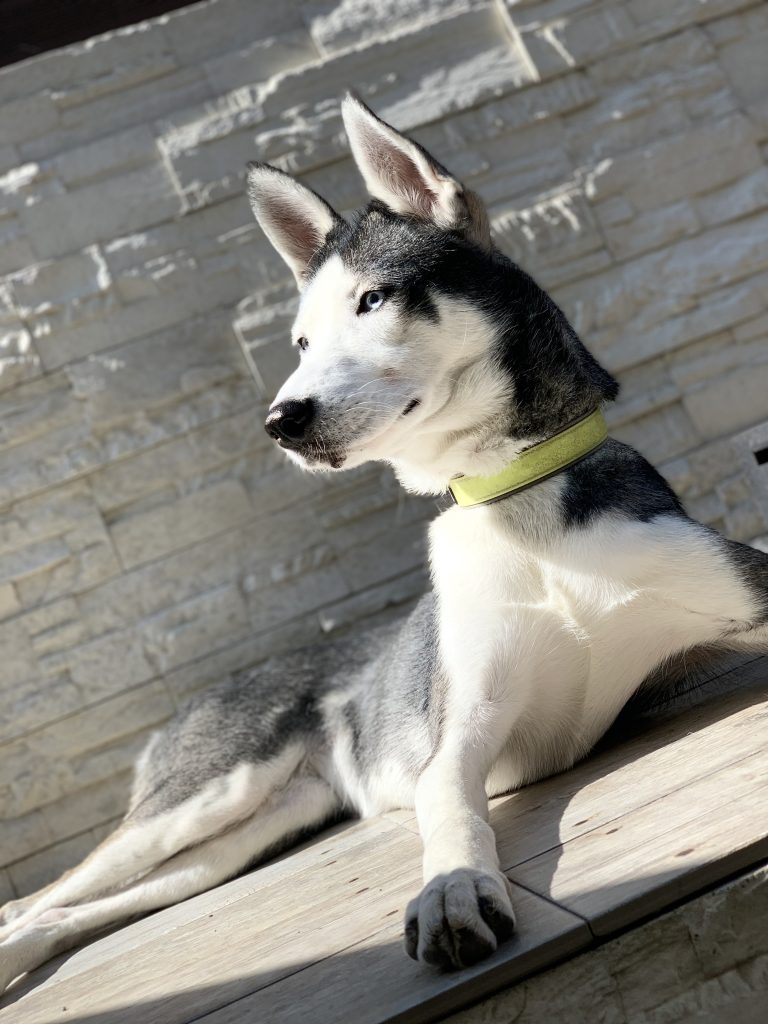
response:
<path id="1" fill-rule="evenodd" d="M 341 217 L 315 193 L 269 164 L 248 165 L 248 198 L 264 233 L 301 290 L 312 256 Z"/>

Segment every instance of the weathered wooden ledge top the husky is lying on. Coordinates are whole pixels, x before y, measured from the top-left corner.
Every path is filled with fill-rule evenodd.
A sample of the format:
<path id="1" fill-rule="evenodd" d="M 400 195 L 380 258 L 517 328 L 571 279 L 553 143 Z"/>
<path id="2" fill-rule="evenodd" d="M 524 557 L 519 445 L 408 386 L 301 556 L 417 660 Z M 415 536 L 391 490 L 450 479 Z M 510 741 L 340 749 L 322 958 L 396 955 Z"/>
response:
<path id="1" fill-rule="evenodd" d="M 722 672 L 563 775 L 495 801 L 517 938 L 469 971 L 408 959 L 413 814 L 340 826 L 113 932 L 7 993 L 0 1024 L 431 1021 L 768 857 L 768 658 Z"/>

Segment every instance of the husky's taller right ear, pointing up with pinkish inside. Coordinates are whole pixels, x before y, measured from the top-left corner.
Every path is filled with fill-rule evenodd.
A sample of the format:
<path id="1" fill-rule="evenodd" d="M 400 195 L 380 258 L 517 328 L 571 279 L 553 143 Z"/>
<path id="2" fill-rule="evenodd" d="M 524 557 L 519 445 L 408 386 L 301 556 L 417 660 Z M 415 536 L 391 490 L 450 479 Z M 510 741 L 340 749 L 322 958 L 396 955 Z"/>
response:
<path id="1" fill-rule="evenodd" d="M 349 145 L 368 190 L 390 210 L 463 231 L 490 246 L 487 213 L 479 197 L 444 167 L 347 93 L 341 104 Z"/>

